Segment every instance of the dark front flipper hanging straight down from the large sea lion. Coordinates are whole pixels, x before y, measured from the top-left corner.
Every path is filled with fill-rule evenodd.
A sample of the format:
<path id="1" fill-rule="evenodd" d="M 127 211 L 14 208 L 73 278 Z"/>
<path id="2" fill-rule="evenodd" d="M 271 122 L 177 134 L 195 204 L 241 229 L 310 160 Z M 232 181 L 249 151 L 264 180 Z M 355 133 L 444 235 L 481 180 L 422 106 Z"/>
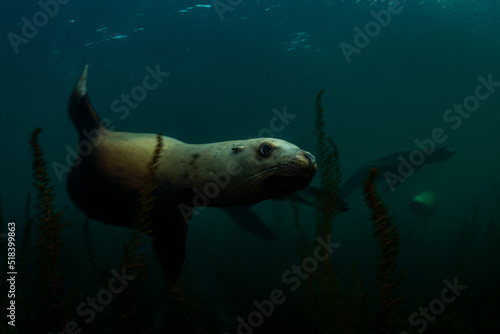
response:
<path id="1" fill-rule="evenodd" d="M 168 215 L 161 215 L 153 222 L 153 251 L 163 268 L 165 277 L 177 282 L 186 258 L 186 236 L 188 224 L 176 207 Z M 174 214 L 172 214 L 174 212 Z"/>

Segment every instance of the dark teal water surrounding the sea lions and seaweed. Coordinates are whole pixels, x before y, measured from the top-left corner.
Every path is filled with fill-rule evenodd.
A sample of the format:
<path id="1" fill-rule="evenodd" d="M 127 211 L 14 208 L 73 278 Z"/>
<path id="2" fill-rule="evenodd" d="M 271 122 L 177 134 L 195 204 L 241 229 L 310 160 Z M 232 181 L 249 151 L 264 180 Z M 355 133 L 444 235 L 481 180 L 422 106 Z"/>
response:
<path id="1" fill-rule="evenodd" d="M 374 20 L 370 11 L 395 2 L 232 1 L 221 20 L 210 1 L 73 0 L 60 4 L 16 53 L 9 33 L 21 35 L 22 18 L 31 21 L 40 5 L 2 0 L 2 232 L 7 222 L 16 222 L 19 254 L 27 193 L 36 201 L 29 139 L 41 127 L 55 204 L 66 207 L 64 218 L 72 221 L 62 231 L 58 260 L 65 295 L 73 303 L 67 321 L 75 321 L 82 333 L 124 332 L 120 325 L 130 333 L 499 333 L 500 87 L 456 129 L 443 114 L 474 94 L 478 77 L 500 81 L 500 2 L 401 1 L 402 11 L 348 63 L 340 44 L 353 45 L 354 28 Z M 331 229 L 332 242 L 340 244 L 332 255 L 335 287 L 318 283 L 325 273 L 317 274 L 316 283 L 301 281 L 297 291 L 282 280 L 301 263 L 297 249 L 303 238 L 313 250 L 317 214 L 311 206 L 297 204 L 298 219 L 290 202 L 254 206 L 276 235 L 273 240 L 242 229 L 220 209 L 206 208 L 189 224 L 178 290 L 166 291 L 146 239 L 140 251 L 148 272 L 137 282 L 142 293 L 134 306 L 141 316 L 121 316 L 118 303 L 125 302 L 117 298 L 86 323 L 87 317 L 76 314 L 77 305 L 106 287 L 111 270 L 120 270 L 129 231 L 96 221 L 85 230 L 84 214 L 51 168 L 64 164 L 67 147 L 77 144 L 67 101 L 85 64 L 90 99 L 116 130 L 161 133 L 188 143 L 257 137 L 269 128 L 273 110 L 286 108 L 296 117 L 273 135 L 317 155 L 315 99 L 325 89 L 325 132 L 337 144 L 343 180 L 373 157 L 415 146 L 416 139 L 442 128 L 443 145 L 456 153 L 381 195 L 400 236 L 397 266 L 406 273 L 394 292 L 402 297 L 391 309 L 397 320 L 384 329 L 376 325 L 378 314 L 387 311 L 377 297 L 380 248 L 357 190 L 349 197 L 350 211 L 339 213 Z M 169 76 L 121 119 L 112 102 L 141 84 L 148 66 Z M 312 184 L 319 186 L 319 177 Z M 437 196 L 433 217 L 410 210 L 411 199 L 424 190 Z M 31 208 L 35 224 L 36 212 Z M 27 311 L 18 303 L 18 326 L 8 326 L 2 316 L 1 332 L 60 332 L 45 328 L 40 316 L 50 301 L 37 298 L 44 284 L 37 233 L 33 226 L 27 274 L 17 276 L 17 300 L 31 305 L 29 320 L 21 327 Z M 2 254 L 3 274 L 7 256 Z M 419 308 L 439 304 L 432 302 L 441 298 L 445 280 L 467 288 L 443 304 L 439 315 L 409 320 Z M 257 321 L 248 320 L 257 309 L 254 301 L 269 299 L 274 289 L 284 291 L 286 301 L 258 326 L 241 325 L 241 319 Z"/>

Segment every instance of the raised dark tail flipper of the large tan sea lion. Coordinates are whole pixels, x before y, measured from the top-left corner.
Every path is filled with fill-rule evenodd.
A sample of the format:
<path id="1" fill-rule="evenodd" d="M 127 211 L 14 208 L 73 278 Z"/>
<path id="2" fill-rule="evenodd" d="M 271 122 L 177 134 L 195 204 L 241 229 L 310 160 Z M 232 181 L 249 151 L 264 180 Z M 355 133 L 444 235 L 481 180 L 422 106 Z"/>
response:
<path id="1" fill-rule="evenodd" d="M 87 95 L 87 70 L 89 65 L 85 65 L 78 82 L 69 98 L 68 112 L 73 125 L 80 137 L 92 130 L 105 130 L 101 119 L 94 110 Z"/>

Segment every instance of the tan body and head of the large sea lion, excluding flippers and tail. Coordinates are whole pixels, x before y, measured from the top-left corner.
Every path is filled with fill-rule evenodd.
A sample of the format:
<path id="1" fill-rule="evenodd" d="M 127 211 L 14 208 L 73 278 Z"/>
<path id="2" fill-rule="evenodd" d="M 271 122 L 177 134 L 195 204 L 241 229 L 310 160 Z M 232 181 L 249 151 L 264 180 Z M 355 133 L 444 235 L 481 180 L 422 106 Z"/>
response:
<path id="1" fill-rule="evenodd" d="M 139 193 L 144 186 L 146 165 L 157 143 L 154 134 L 103 130 L 92 153 L 84 156 L 68 176 L 68 192 L 73 202 L 89 217 L 130 226 L 139 209 Z M 226 207 L 253 204 L 286 196 L 306 187 L 314 170 L 308 155 L 297 146 L 279 139 L 258 138 L 208 144 L 186 144 L 162 136 L 163 150 L 155 176 L 158 205 Z M 254 154 L 254 148 L 269 143 L 276 151 L 269 161 Z M 238 152 L 233 148 L 238 148 Z M 263 180 L 251 188 L 242 182 L 277 161 L 303 168 L 303 174 L 276 187 Z M 250 180 L 249 180 L 250 182 Z M 279 182 L 279 181 L 276 181 Z M 237 187 L 238 185 L 240 185 Z M 194 200 L 202 194 L 203 200 Z M 180 210 L 182 207 L 179 208 Z"/>

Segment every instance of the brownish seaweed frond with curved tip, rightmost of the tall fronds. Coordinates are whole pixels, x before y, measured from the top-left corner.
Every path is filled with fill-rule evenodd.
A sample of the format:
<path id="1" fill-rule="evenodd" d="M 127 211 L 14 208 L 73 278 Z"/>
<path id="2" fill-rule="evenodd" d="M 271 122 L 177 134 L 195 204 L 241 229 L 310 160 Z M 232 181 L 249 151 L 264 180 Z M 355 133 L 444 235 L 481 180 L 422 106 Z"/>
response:
<path id="1" fill-rule="evenodd" d="M 380 200 L 375 189 L 378 168 L 373 168 L 368 174 L 363 193 L 368 208 L 371 211 L 372 226 L 380 247 L 377 256 L 377 286 L 379 291 L 380 313 L 375 324 L 376 333 L 389 333 L 395 330 L 396 318 L 394 308 L 401 303 L 401 296 L 396 296 L 394 290 L 404 277 L 402 270 L 397 269 L 396 257 L 399 254 L 399 233 L 392 223 L 389 210 Z"/>

